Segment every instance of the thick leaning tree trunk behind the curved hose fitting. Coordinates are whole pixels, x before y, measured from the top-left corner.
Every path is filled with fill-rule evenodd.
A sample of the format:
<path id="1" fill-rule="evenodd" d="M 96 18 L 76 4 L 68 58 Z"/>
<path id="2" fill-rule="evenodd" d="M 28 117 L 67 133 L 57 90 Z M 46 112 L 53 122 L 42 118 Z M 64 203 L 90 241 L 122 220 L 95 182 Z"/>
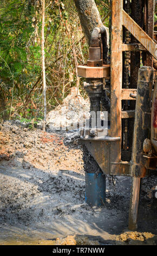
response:
<path id="1" fill-rule="evenodd" d="M 89 44 L 93 29 L 102 25 L 99 10 L 94 0 L 74 0 L 74 3 L 80 18 L 83 33 Z"/>

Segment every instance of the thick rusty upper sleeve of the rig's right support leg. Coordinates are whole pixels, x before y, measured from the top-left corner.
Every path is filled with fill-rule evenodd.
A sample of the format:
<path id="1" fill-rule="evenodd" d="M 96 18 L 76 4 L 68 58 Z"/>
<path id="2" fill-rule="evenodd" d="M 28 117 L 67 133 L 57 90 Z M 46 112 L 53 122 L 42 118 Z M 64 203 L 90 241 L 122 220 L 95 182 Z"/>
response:
<path id="1" fill-rule="evenodd" d="M 151 129 L 151 95 L 154 72 L 149 66 L 139 69 L 138 89 L 136 96 L 135 124 L 132 161 L 130 174 L 143 178 L 145 169 L 143 166 L 143 141 L 150 135 Z"/>

